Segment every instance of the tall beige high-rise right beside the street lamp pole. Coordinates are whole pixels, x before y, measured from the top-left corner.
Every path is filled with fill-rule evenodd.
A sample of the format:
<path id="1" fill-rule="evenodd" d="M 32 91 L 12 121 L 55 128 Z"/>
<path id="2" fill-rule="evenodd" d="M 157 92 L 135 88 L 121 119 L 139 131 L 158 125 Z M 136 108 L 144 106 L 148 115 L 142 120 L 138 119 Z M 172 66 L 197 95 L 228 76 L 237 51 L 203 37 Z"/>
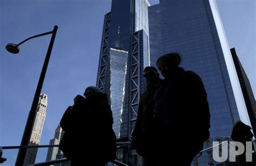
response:
<path id="1" fill-rule="evenodd" d="M 47 95 L 40 95 L 39 102 L 37 105 L 36 118 L 33 123 L 33 130 L 30 138 L 29 145 L 39 145 L 43 127 L 44 120 L 46 116 L 46 107 L 47 107 Z M 34 164 L 36 161 L 37 148 L 28 148 L 26 150 L 26 155 L 24 158 L 24 165 Z"/>

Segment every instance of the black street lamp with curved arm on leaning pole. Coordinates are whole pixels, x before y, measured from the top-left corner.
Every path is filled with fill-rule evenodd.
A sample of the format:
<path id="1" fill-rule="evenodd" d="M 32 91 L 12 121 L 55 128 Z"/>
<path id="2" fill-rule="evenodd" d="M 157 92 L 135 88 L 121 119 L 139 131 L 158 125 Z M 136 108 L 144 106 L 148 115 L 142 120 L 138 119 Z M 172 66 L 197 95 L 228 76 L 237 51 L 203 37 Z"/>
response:
<path id="1" fill-rule="evenodd" d="M 50 32 L 34 35 L 34 36 L 32 36 L 28 39 L 25 39 L 24 41 L 20 42 L 17 45 L 16 44 L 8 44 L 5 47 L 8 50 L 8 52 L 13 53 L 13 54 L 17 54 L 17 53 L 19 53 L 19 47 L 18 46 L 23 44 L 24 42 L 26 42 L 30 39 L 33 39 L 33 38 L 42 37 L 43 35 L 52 34 L 51 41 L 50 41 L 50 44 L 49 44 L 49 47 L 48 47 L 48 51 L 47 51 L 46 56 L 45 56 L 44 65 L 43 65 L 41 75 L 39 77 L 39 81 L 38 81 L 38 84 L 37 84 L 37 88 L 36 88 L 35 96 L 34 96 L 34 99 L 33 99 L 33 103 L 32 103 L 32 106 L 31 106 L 31 109 L 30 109 L 30 112 L 29 112 L 28 120 L 26 121 L 26 126 L 25 126 L 24 133 L 23 133 L 23 136 L 22 136 L 21 146 L 29 145 L 29 141 L 30 141 L 30 137 L 31 137 L 31 133 L 32 133 L 32 127 L 33 127 L 33 121 L 35 119 L 36 109 L 37 109 L 37 105 L 38 105 L 38 102 L 39 102 L 39 97 L 40 97 L 40 94 L 41 94 L 41 90 L 42 90 L 42 86 L 43 86 L 43 82 L 44 82 L 44 77 L 45 77 L 46 70 L 47 70 L 47 67 L 48 67 L 48 63 L 49 63 L 49 60 L 50 60 L 51 50 L 52 50 L 53 42 L 54 42 L 54 39 L 55 39 L 55 36 L 56 36 L 56 33 L 57 33 L 57 29 L 58 29 L 58 26 L 55 25 L 53 30 L 50 31 Z M 17 159 L 16 159 L 16 163 L 15 163 L 16 166 L 23 165 L 25 154 L 26 154 L 26 148 L 19 149 Z"/>

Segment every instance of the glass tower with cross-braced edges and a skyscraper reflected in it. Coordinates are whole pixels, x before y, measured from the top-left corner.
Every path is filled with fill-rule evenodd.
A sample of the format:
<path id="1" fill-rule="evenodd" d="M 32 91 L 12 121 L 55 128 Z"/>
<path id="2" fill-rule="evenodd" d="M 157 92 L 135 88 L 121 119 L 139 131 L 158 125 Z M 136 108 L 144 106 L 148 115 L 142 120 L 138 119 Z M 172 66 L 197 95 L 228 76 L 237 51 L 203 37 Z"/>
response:
<path id="1" fill-rule="evenodd" d="M 149 5 L 147 0 L 112 0 L 111 12 L 104 19 L 96 86 L 109 96 L 118 141 L 129 141 L 139 96 L 145 89 L 143 69 L 149 66 Z M 119 161 L 132 165 L 128 145 L 119 146 L 117 156 Z"/>

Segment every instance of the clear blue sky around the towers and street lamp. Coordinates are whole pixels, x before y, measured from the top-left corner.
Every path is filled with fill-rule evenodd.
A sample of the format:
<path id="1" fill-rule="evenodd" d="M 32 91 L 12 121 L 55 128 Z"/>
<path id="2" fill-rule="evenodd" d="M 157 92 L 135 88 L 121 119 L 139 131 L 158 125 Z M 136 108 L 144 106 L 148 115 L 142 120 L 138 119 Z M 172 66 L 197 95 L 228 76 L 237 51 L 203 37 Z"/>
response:
<path id="1" fill-rule="evenodd" d="M 230 48 L 237 50 L 255 94 L 255 1 L 217 4 Z M 42 89 L 48 95 L 41 138 L 46 145 L 73 98 L 96 84 L 103 20 L 110 8 L 111 0 L 0 1 L 0 146 L 21 142 L 51 35 L 27 41 L 17 55 L 7 52 L 6 44 L 59 26 Z M 46 151 L 39 150 L 37 161 L 45 160 Z M 14 165 L 16 155 L 17 150 L 4 150 L 8 162 L 3 165 Z"/>

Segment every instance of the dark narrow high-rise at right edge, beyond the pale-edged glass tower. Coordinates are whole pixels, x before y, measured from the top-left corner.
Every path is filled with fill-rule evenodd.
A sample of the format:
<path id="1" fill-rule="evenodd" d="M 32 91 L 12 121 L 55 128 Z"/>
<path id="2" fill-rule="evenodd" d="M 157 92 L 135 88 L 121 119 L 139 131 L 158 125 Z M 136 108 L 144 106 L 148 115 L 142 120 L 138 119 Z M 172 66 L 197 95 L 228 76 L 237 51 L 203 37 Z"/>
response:
<path id="1" fill-rule="evenodd" d="M 242 95 L 244 95 L 246 108 L 248 111 L 248 115 L 252 124 L 253 133 L 256 133 L 256 106 L 255 106 L 255 98 L 253 95 L 252 87 L 250 81 L 246 75 L 245 69 L 242 67 L 242 63 L 239 60 L 237 52 L 235 48 L 231 48 L 231 54 L 233 57 L 235 69 L 237 70 L 237 75 L 239 78 L 239 82 L 242 89 Z"/>

